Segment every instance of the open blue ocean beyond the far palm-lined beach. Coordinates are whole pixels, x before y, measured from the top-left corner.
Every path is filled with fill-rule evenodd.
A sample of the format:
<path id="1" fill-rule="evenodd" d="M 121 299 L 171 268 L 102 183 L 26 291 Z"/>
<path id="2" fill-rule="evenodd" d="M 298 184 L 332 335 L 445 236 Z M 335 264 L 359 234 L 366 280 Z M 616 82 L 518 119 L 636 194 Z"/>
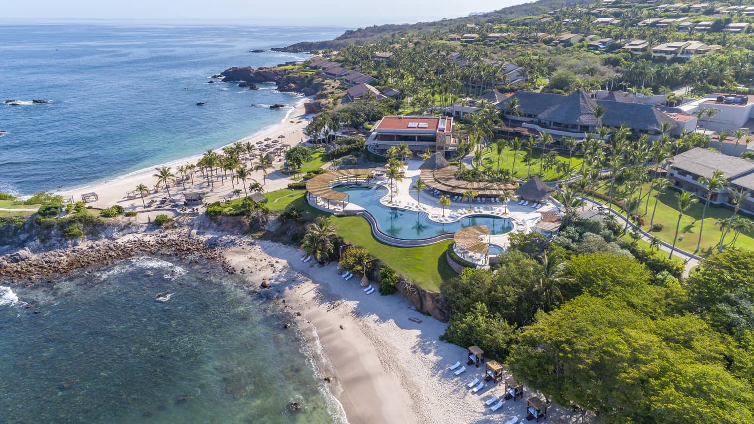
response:
<path id="1" fill-rule="evenodd" d="M 250 53 L 333 38 L 336 27 L 0 26 L 0 191 L 79 188 L 219 148 L 279 123 L 299 96 L 207 84 L 231 66 L 308 57 Z M 206 105 L 198 106 L 197 102 Z"/>

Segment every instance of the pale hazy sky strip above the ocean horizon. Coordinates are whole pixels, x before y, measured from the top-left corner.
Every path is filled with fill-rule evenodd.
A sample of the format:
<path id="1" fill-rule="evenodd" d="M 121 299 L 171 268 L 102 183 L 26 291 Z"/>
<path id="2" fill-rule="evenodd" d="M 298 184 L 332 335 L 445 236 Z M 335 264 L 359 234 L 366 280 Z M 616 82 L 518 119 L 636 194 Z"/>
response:
<path id="1" fill-rule="evenodd" d="M 366 26 L 492 11 L 526 0 L 0 0 L 5 22 L 31 20 L 233 20 Z"/>

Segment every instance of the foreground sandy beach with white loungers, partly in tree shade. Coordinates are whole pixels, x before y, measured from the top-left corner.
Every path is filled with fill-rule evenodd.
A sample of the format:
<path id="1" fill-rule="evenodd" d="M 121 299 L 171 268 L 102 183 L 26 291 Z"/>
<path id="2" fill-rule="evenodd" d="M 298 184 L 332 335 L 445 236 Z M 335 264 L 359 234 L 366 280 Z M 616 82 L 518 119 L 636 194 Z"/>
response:
<path id="1" fill-rule="evenodd" d="M 446 324 L 417 313 L 400 295 L 366 295 L 356 279 L 341 279 L 335 264 L 304 264 L 301 255 L 299 249 L 268 242 L 226 252 L 252 284 L 268 278 L 270 293 L 283 295 L 292 313 L 302 313 L 296 322 L 315 352 L 322 346 L 322 355 L 314 356 L 322 374 L 333 377 L 330 389 L 348 422 L 481 424 L 512 416 L 525 419 L 526 398 L 534 395 L 529 389 L 523 401 L 506 401 L 493 413 L 484 401 L 503 395 L 504 384 L 487 383 L 473 394 L 465 385 L 481 377 L 484 368 L 467 367 L 458 377 L 448 371 L 455 361 L 464 361 L 467 352 L 438 340 Z M 547 422 L 557 417 L 589 421 L 550 404 Z"/>

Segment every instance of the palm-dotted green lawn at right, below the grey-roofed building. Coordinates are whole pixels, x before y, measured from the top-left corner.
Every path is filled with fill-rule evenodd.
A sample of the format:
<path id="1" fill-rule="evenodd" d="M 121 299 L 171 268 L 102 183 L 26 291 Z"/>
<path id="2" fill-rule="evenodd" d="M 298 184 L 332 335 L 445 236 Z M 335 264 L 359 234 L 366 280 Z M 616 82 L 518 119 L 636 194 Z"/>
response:
<path id="1" fill-rule="evenodd" d="M 644 215 L 645 206 L 648 206 L 646 215 L 644 215 L 645 230 L 649 230 L 649 222 L 651 220 L 652 208 L 654 207 L 654 201 L 657 199 L 657 191 L 652 191 L 651 198 L 648 198 L 649 184 L 643 186 L 642 191 L 642 203 L 639 206 L 639 212 Z M 597 191 L 607 194 L 610 191 L 610 183 L 606 181 L 603 183 Z M 621 199 L 626 196 L 622 187 L 615 188 L 615 194 L 613 197 Z M 654 214 L 654 223 L 663 224 L 664 229 L 661 231 L 650 231 L 653 236 L 657 236 L 659 239 L 673 244 L 673 236 L 676 233 L 676 221 L 678 220 L 678 197 L 676 194 L 678 191 L 669 189 L 660 196 L 660 201 L 657 203 L 657 212 Z M 636 191 L 634 196 L 638 196 L 639 192 Z M 646 202 L 649 201 L 647 205 Z M 683 249 L 686 252 L 694 252 L 697 248 L 697 239 L 699 238 L 699 229 L 701 225 L 703 200 L 698 199 L 699 202 L 691 206 L 681 218 L 681 224 L 678 233 L 678 242 L 676 247 Z M 603 202 L 604 203 L 604 202 Z M 702 233 L 702 243 L 700 251 L 697 253 L 700 256 L 710 255 L 712 252 L 717 252 L 715 246 L 720 241 L 720 227 L 716 224 L 719 218 L 730 218 L 733 215 L 733 211 L 724 207 L 710 206 L 707 208 L 706 215 L 704 217 L 704 230 Z M 726 246 L 731 246 L 733 239 L 733 230 L 728 233 L 728 237 L 725 239 Z M 736 247 L 744 249 L 754 249 L 754 237 L 751 233 L 742 233 L 736 240 Z"/>

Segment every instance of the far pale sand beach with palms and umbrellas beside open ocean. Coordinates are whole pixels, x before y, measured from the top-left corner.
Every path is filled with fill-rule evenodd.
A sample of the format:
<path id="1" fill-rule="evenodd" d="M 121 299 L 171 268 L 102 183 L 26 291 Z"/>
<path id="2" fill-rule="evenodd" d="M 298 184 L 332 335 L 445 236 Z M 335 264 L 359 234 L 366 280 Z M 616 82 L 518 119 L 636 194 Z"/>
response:
<path id="1" fill-rule="evenodd" d="M 283 135 L 285 136 L 285 138 L 282 139 L 282 142 L 280 142 L 280 144 L 290 144 L 292 147 L 299 144 L 299 142 L 302 142 L 302 140 L 304 139 L 303 130 L 311 120 L 311 116 L 305 114 L 304 103 L 306 101 L 308 101 L 308 99 L 304 99 L 302 102 L 296 105 L 296 108 L 294 108 L 293 111 L 288 114 L 288 116 L 282 123 L 271 127 L 268 130 L 262 130 L 259 133 L 254 133 L 253 135 L 245 137 L 244 139 L 238 141 L 256 143 L 258 141 L 264 140 L 265 138 L 277 139 L 277 136 Z M 293 123 L 291 121 L 293 121 Z M 229 143 L 228 145 L 230 144 L 233 143 Z M 220 149 L 217 149 L 217 151 L 219 152 Z M 186 163 L 196 163 L 196 161 L 200 158 L 201 155 L 198 155 L 182 160 L 176 160 L 171 163 L 152 166 L 149 169 L 143 169 L 139 172 L 133 172 L 128 175 L 115 178 L 111 181 L 103 181 L 101 183 L 97 183 L 96 185 L 77 188 L 75 190 L 63 191 L 59 194 L 62 194 L 64 197 L 72 196 L 74 200 L 78 201 L 81 200 L 81 194 L 94 192 L 97 193 L 97 195 L 100 197 L 100 200 L 98 200 L 97 202 L 88 203 L 90 206 L 102 208 L 118 204 L 123 206 L 126 210 L 143 209 L 141 197 L 137 197 L 133 200 L 127 200 L 127 191 L 135 190 L 136 186 L 139 184 L 146 185 L 147 187 L 152 189 L 152 187 L 157 183 L 157 178 L 152 176 L 155 173 L 156 167 L 171 166 L 173 168 L 173 172 L 176 173 L 176 166 L 185 165 Z M 274 168 L 268 169 L 269 176 L 265 183 L 265 191 L 274 191 L 279 188 L 284 188 L 290 182 L 290 178 L 287 178 L 286 175 L 283 175 L 280 171 L 276 170 L 282 166 L 282 162 L 277 161 L 274 162 L 273 165 Z M 176 173 L 176 175 L 178 174 Z M 262 177 L 263 175 L 261 170 L 254 170 L 250 175 L 250 178 L 254 178 L 260 183 L 263 182 L 264 178 Z M 233 196 L 232 191 L 234 187 L 233 185 L 231 185 L 231 181 L 228 178 L 226 178 L 224 182 L 216 181 L 214 184 L 214 190 L 212 190 L 209 185 L 207 185 L 206 180 L 202 178 L 197 169 L 197 172 L 194 175 L 194 182 L 194 185 L 189 184 L 190 181 L 186 183 L 186 191 L 205 191 L 209 194 L 207 197 L 207 201 L 209 202 L 226 199 Z M 250 185 L 252 182 L 253 181 L 248 179 L 247 185 Z M 235 188 L 242 187 L 236 185 Z M 182 185 L 170 188 L 170 194 L 175 195 L 175 199 L 181 202 L 183 200 L 183 197 L 180 195 L 182 192 Z M 152 198 L 159 200 L 164 196 L 167 196 L 167 194 L 164 192 L 164 188 L 161 188 L 158 194 L 151 192 L 148 196 L 145 196 L 145 200 L 147 203 L 149 203 L 149 200 Z"/>

